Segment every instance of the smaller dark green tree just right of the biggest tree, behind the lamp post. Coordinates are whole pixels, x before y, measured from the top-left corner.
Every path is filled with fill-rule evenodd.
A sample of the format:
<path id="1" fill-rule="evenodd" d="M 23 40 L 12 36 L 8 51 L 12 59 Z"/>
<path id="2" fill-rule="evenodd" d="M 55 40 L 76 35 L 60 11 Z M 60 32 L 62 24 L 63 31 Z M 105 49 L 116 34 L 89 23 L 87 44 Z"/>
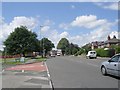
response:
<path id="1" fill-rule="evenodd" d="M 46 54 L 54 48 L 54 44 L 48 40 L 48 38 L 42 38 L 40 40 L 40 51 L 43 54 L 43 51 L 45 50 L 45 56 Z"/>

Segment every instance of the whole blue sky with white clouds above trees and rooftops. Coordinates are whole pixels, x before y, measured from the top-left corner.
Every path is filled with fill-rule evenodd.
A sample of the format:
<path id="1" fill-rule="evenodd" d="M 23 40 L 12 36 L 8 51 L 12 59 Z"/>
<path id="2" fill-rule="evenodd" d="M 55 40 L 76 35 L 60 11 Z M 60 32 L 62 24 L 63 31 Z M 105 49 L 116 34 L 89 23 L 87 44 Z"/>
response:
<path id="1" fill-rule="evenodd" d="M 118 10 L 117 2 L 2 2 L 0 50 L 21 25 L 55 46 L 61 38 L 81 47 L 108 35 L 118 37 Z"/>

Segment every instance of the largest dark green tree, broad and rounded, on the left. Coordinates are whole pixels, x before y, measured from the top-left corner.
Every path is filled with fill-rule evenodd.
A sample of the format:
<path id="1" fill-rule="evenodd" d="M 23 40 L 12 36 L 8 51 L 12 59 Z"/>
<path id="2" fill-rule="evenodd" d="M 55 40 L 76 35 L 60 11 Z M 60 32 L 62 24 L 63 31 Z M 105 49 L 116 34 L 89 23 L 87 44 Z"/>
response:
<path id="1" fill-rule="evenodd" d="M 37 51 L 39 42 L 34 32 L 28 31 L 27 27 L 20 26 L 15 28 L 8 38 L 4 41 L 7 53 L 11 55 L 23 54 Z"/>

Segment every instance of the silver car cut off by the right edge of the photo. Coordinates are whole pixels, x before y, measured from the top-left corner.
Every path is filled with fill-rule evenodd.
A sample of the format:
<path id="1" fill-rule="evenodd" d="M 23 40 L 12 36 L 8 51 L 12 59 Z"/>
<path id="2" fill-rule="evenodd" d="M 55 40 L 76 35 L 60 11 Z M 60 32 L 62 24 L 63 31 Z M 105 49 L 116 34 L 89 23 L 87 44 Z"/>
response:
<path id="1" fill-rule="evenodd" d="M 120 54 L 116 54 L 110 60 L 102 62 L 101 73 L 120 77 Z"/>

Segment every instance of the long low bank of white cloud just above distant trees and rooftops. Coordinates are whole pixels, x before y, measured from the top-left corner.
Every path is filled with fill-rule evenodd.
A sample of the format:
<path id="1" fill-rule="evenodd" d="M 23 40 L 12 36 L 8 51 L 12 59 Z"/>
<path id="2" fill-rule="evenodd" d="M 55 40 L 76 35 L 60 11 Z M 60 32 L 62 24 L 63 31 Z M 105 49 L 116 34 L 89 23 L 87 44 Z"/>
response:
<path id="1" fill-rule="evenodd" d="M 107 40 L 108 35 L 113 36 L 117 35 L 117 31 L 111 31 L 109 26 L 102 26 L 91 30 L 89 33 L 85 34 L 78 34 L 78 35 L 70 35 L 69 32 L 63 31 L 59 33 L 55 29 L 49 29 L 46 33 L 46 37 L 51 40 L 55 47 L 57 46 L 58 42 L 61 38 L 67 38 L 70 43 L 78 44 L 79 46 L 83 46 L 87 43 L 93 41 L 105 41 Z"/>

